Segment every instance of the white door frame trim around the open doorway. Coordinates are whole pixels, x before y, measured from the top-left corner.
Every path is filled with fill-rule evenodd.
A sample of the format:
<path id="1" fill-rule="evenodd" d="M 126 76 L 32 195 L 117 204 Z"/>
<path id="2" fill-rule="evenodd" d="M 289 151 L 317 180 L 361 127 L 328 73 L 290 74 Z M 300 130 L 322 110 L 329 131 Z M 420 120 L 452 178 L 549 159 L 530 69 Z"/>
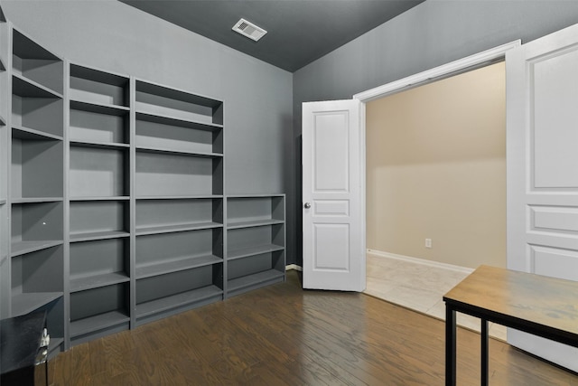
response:
<path id="1" fill-rule="evenodd" d="M 445 78 L 450 78 L 455 75 L 459 75 L 463 72 L 468 72 L 472 70 L 479 69 L 481 67 L 488 66 L 499 61 L 506 61 L 506 52 L 509 50 L 519 47 L 522 44 L 521 40 L 516 40 L 513 42 L 508 42 L 506 44 L 499 45 L 498 47 L 491 48 L 489 50 L 467 56 L 465 58 L 459 59 L 457 61 L 451 61 L 447 64 L 443 64 L 439 67 L 435 67 L 431 70 L 419 72 L 415 75 L 403 78 L 401 80 L 395 80 L 382 86 L 378 86 L 374 89 L 368 89 L 366 91 L 359 92 L 353 95 L 352 99 L 359 99 L 362 103 L 363 117 L 362 125 L 359 127 L 359 137 L 361 138 L 361 146 L 359 153 L 359 162 L 361 163 L 362 169 L 366 170 L 366 117 L 365 117 L 365 105 L 366 103 L 387 97 L 392 94 L 396 94 L 407 89 L 414 89 L 419 86 L 424 86 L 425 84 L 432 83 L 436 80 L 443 80 Z M 508 127 L 506 128 L 508 130 Z M 508 149 L 506 150 L 508 152 Z M 360 186 L 361 194 L 361 204 L 364 211 L 366 210 L 366 176 L 363 175 L 361 179 Z M 367 230 L 365 224 L 365 213 L 363 213 L 364 223 L 362 224 L 363 235 L 362 240 L 367 238 Z M 365 246 L 365 242 L 363 242 Z M 363 253 L 367 253 L 364 250 Z M 367 275 L 367 272 L 366 272 Z"/>

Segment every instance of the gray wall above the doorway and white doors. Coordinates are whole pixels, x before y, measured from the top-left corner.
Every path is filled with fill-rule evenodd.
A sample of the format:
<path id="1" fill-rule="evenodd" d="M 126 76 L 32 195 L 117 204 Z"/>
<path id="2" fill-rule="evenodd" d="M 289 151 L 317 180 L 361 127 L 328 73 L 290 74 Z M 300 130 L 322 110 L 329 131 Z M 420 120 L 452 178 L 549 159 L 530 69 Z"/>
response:
<path id="1" fill-rule="evenodd" d="M 351 99 L 367 89 L 522 39 L 532 41 L 578 23 L 578 2 L 558 0 L 427 0 L 294 72 L 294 149 L 301 159 L 301 104 Z M 301 166 L 294 196 L 301 224 Z M 292 194 L 292 195 L 293 195 Z M 296 248 L 301 250 L 297 230 Z M 301 264 L 301 256 L 297 256 Z"/>

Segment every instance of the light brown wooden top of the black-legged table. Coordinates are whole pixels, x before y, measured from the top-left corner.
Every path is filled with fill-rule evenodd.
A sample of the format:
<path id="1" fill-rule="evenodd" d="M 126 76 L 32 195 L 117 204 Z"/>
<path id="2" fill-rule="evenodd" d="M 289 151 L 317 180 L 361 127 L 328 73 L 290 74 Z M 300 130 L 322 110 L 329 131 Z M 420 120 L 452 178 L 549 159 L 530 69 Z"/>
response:
<path id="1" fill-rule="evenodd" d="M 488 315 L 498 323 L 523 321 L 563 331 L 566 337 L 578 341 L 576 281 L 480 266 L 445 294 L 443 300 Z"/>

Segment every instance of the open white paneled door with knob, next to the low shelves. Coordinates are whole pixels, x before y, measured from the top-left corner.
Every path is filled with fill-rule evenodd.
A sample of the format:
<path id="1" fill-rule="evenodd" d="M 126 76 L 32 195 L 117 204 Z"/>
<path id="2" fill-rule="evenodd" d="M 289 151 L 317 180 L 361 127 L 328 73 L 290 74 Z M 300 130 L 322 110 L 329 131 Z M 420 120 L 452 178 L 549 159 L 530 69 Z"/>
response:
<path id="1" fill-rule="evenodd" d="M 363 291 L 365 124 L 357 99 L 303 103 L 303 287 Z"/>

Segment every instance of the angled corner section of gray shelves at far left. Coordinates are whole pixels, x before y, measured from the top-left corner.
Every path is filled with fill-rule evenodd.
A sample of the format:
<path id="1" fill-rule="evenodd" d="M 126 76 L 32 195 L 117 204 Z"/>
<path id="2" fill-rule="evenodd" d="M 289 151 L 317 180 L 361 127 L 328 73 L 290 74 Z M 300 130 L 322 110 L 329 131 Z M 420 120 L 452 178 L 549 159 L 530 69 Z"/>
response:
<path id="1" fill-rule="evenodd" d="M 64 62 L 9 23 L 0 32 L 0 314 L 46 311 L 56 353 L 65 340 Z"/>

